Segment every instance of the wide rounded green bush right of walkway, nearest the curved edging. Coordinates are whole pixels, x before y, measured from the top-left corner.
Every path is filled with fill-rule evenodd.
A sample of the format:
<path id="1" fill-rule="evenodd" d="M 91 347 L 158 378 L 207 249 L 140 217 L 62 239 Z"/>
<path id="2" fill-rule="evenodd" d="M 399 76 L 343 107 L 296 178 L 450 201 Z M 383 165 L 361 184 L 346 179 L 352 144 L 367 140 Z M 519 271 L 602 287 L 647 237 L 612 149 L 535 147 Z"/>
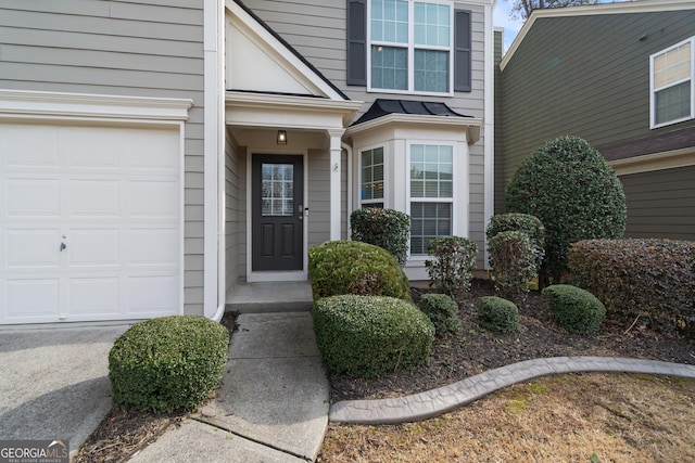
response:
<path id="1" fill-rule="evenodd" d="M 422 363 L 434 338 L 434 326 L 415 305 L 383 296 L 317 300 L 314 332 L 329 371 L 365 378 Z"/>

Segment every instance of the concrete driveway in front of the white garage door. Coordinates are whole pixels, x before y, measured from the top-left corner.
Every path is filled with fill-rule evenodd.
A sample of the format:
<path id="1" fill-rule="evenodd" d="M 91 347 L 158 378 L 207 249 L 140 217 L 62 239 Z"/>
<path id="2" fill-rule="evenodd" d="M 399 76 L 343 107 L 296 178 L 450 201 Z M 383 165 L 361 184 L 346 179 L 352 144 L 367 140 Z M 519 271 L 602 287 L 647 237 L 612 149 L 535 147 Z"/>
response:
<path id="1" fill-rule="evenodd" d="M 0 440 L 63 439 L 72 458 L 111 408 L 109 351 L 127 329 L 0 330 Z"/>

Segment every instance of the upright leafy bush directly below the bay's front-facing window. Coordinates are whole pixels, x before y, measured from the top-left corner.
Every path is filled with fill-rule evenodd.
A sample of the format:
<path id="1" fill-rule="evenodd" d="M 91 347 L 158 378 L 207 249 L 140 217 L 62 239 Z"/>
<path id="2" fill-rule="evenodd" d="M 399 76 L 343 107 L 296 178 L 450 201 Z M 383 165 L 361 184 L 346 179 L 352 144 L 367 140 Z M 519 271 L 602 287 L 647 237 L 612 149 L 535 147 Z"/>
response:
<path id="1" fill-rule="evenodd" d="M 429 242 L 427 254 L 434 257 L 434 260 L 425 261 L 430 286 L 456 301 L 463 300 L 476 269 L 476 243 L 463 236 L 437 237 Z"/>

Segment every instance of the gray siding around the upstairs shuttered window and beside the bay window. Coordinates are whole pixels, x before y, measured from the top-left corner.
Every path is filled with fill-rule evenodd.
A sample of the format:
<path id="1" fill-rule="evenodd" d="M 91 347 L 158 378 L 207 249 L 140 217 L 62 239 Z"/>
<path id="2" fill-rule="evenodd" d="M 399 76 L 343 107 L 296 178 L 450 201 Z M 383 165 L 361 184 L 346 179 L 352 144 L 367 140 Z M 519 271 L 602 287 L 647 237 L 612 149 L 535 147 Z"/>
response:
<path id="1" fill-rule="evenodd" d="M 326 0 L 317 4 L 302 0 L 244 0 L 243 2 L 274 31 L 288 41 L 315 66 L 326 78 L 341 89 L 350 99 L 364 101 L 362 111 L 366 111 L 378 98 L 406 99 L 424 101 L 441 101 L 454 111 L 479 118 L 484 118 L 484 8 L 482 5 L 455 2 L 456 9 L 472 12 L 472 91 L 455 92 L 454 97 L 414 95 L 408 93 L 367 92 L 365 87 L 346 85 L 346 1 Z M 359 114 L 357 115 L 359 117 Z M 309 178 L 321 178 L 318 183 L 309 181 L 309 189 L 316 193 L 328 191 L 328 172 L 323 165 L 315 165 L 317 157 L 309 156 Z M 483 140 L 470 146 L 469 181 L 470 181 L 470 233 L 480 249 L 483 247 Z M 318 170 L 314 170 L 314 168 Z M 320 175 L 319 175 L 320 173 Z M 324 180 L 324 177 L 325 180 Z M 344 190 L 343 190 L 344 191 Z M 313 197 L 317 196 L 315 194 Z M 328 201 L 316 197 L 312 207 L 309 228 L 309 246 L 320 243 L 329 236 Z M 346 215 L 344 215 L 346 220 Z M 342 223 L 343 235 L 346 236 L 348 223 Z M 482 254 L 481 254 L 482 259 Z M 480 260 L 479 266 L 482 265 Z"/>

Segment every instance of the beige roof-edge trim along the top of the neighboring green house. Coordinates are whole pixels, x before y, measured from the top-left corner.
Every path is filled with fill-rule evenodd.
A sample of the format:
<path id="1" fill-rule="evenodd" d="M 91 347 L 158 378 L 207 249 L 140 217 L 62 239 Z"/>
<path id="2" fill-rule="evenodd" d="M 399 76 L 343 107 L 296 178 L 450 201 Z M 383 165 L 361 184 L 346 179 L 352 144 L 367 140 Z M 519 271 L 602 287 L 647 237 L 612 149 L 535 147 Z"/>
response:
<path id="1" fill-rule="evenodd" d="M 511 42 L 511 47 L 500 62 L 500 69 L 504 70 L 507 63 L 514 57 L 514 53 L 519 48 L 523 38 L 541 18 L 549 17 L 571 17 L 571 16 L 596 16 L 604 14 L 626 14 L 626 13 L 662 13 L 666 11 L 681 11 L 695 9 L 695 0 L 628 0 L 617 3 L 585 4 L 578 7 L 551 8 L 534 10 Z"/>

